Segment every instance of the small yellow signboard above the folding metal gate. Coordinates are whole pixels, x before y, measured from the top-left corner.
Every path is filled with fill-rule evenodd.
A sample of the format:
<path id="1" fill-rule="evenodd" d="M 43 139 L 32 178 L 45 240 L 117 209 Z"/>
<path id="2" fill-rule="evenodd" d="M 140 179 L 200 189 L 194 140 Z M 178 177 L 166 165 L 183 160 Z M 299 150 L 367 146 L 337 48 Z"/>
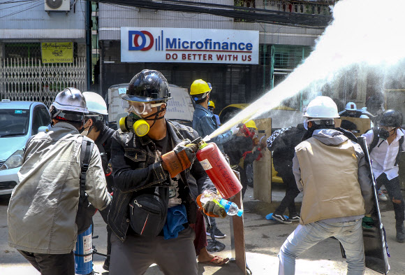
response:
<path id="1" fill-rule="evenodd" d="M 73 42 L 40 43 L 43 63 L 72 63 Z"/>

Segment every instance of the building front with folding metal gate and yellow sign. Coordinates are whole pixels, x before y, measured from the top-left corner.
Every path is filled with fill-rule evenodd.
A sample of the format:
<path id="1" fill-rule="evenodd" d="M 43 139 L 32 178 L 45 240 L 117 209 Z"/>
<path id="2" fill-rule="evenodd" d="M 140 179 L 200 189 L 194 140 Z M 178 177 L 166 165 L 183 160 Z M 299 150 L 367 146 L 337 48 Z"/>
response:
<path id="1" fill-rule="evenodd" d="M 59 1 L 55 1 L 57 3 Z M 88 84 L 87 1 L 0 5 L 0 98 L 48 106 L 64 87 Z"/>

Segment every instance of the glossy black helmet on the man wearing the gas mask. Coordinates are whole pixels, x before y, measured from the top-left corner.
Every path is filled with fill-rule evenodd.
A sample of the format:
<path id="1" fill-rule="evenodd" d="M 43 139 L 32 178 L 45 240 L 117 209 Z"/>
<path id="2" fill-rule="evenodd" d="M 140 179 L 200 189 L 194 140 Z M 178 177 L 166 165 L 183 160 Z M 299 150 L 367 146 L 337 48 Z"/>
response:
<path id="1" fill-rule="evenodd" d="M 170 99 L 169 83 L 160 71 L 142 70 L 131 80 L 122 99 L 137 102 Z"/>

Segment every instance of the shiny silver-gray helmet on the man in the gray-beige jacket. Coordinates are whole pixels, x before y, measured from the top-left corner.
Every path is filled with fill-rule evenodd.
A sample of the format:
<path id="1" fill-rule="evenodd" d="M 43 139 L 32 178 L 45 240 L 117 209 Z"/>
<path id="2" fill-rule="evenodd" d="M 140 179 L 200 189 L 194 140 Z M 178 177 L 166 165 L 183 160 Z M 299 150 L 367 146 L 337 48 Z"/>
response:
<path id="1" fill-rule="evenodd" d="M 68 87 L 57 94 L 50 107 L 52 118 L 69 121 L 82 121 L 84 113 L 89 113 L 86 99 L 80 90 Z"/>

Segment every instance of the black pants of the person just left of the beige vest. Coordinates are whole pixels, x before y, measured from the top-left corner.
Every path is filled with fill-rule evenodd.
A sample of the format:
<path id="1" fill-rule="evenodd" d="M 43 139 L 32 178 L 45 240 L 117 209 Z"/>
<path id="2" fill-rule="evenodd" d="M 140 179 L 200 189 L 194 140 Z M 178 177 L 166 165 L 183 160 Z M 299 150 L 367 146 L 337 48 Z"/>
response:
<path id="1" fill-rule="evenodd" d="M 300 194 L 300 190 L 297 188 L 297 183 L 295 183 L 295 177 L 293 172 L 279 174 L 283 179 L 283 183 L 286 185 L 286 195 L 283 197 L 279 207 L 274 211 L 278 215 L 283 215 L 284 211 L 288 208 L 290 216 L 297 214 L 297 209 L 295 209 L 294 199 Z"/>

